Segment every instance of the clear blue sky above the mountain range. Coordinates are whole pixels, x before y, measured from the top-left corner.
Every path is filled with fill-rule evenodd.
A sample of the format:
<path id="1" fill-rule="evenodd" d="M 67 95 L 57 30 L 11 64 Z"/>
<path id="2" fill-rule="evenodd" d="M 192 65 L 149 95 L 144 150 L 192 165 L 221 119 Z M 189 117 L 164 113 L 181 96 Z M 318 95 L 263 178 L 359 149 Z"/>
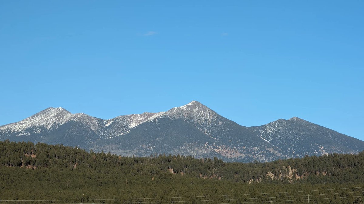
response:
<path id="1" fill-rule="evenodd" d="M 364 1 L 0 1 L 0 125 L 196 100 L 364 140 Z"/>

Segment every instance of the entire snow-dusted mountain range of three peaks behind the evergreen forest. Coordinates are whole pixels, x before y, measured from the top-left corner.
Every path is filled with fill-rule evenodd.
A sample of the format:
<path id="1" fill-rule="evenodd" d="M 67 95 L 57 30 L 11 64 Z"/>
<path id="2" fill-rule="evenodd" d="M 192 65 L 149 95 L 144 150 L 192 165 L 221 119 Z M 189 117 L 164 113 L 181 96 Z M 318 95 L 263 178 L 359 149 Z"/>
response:
<path id="1" fill-rule="evenodd" d="M 47 108 L 0 126 L 0 140 L 77 146 L 123 156 L 154 154 L 217 156 L 259 162 L 331 153 L 356 154 L 364 142 L 293 117 L 245 127 L 192 101 L 166 112 L 121 115 L 103 120 L 62 107 Z"/>

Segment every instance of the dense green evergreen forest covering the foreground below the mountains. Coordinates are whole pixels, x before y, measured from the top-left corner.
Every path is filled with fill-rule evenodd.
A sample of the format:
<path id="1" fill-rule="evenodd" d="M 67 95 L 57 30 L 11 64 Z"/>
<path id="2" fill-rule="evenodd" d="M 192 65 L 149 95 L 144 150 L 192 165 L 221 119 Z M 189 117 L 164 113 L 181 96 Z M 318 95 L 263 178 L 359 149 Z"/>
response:
<path id="1" fill-rule="evenodd" d="M 364 151 L 267 163 L 0 141 L 1 203 L 364 203 Z"/>

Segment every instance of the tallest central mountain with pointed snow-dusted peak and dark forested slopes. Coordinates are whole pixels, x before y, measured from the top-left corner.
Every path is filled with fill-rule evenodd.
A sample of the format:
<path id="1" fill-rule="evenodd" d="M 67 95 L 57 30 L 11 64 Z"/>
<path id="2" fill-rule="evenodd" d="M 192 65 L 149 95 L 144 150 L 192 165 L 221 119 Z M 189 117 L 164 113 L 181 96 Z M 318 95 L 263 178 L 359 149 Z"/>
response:
<path id="1" fill-rule="evenodd" d="M 247 127 L 222 117 L 197 101 L 174 107 L 123 134 L 95 141 L 90 148 L 128 156 L 167 152 L 243 161 L 282 157 L 279 149 Z"/>

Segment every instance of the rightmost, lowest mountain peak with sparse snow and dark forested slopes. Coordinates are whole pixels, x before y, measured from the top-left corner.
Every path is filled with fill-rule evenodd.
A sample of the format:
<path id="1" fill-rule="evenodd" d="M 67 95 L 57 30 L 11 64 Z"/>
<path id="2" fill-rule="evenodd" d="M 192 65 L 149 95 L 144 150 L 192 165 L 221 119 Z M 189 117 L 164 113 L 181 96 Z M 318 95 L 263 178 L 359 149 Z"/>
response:
<path id="1" fill-rule="evenodd" d="M 364 142 L 329 128 L 294 117 L 266 125 L 249 127 L 256 135 L 282 150 L 289 157 L 336 153 L 357 153 Z"/>

